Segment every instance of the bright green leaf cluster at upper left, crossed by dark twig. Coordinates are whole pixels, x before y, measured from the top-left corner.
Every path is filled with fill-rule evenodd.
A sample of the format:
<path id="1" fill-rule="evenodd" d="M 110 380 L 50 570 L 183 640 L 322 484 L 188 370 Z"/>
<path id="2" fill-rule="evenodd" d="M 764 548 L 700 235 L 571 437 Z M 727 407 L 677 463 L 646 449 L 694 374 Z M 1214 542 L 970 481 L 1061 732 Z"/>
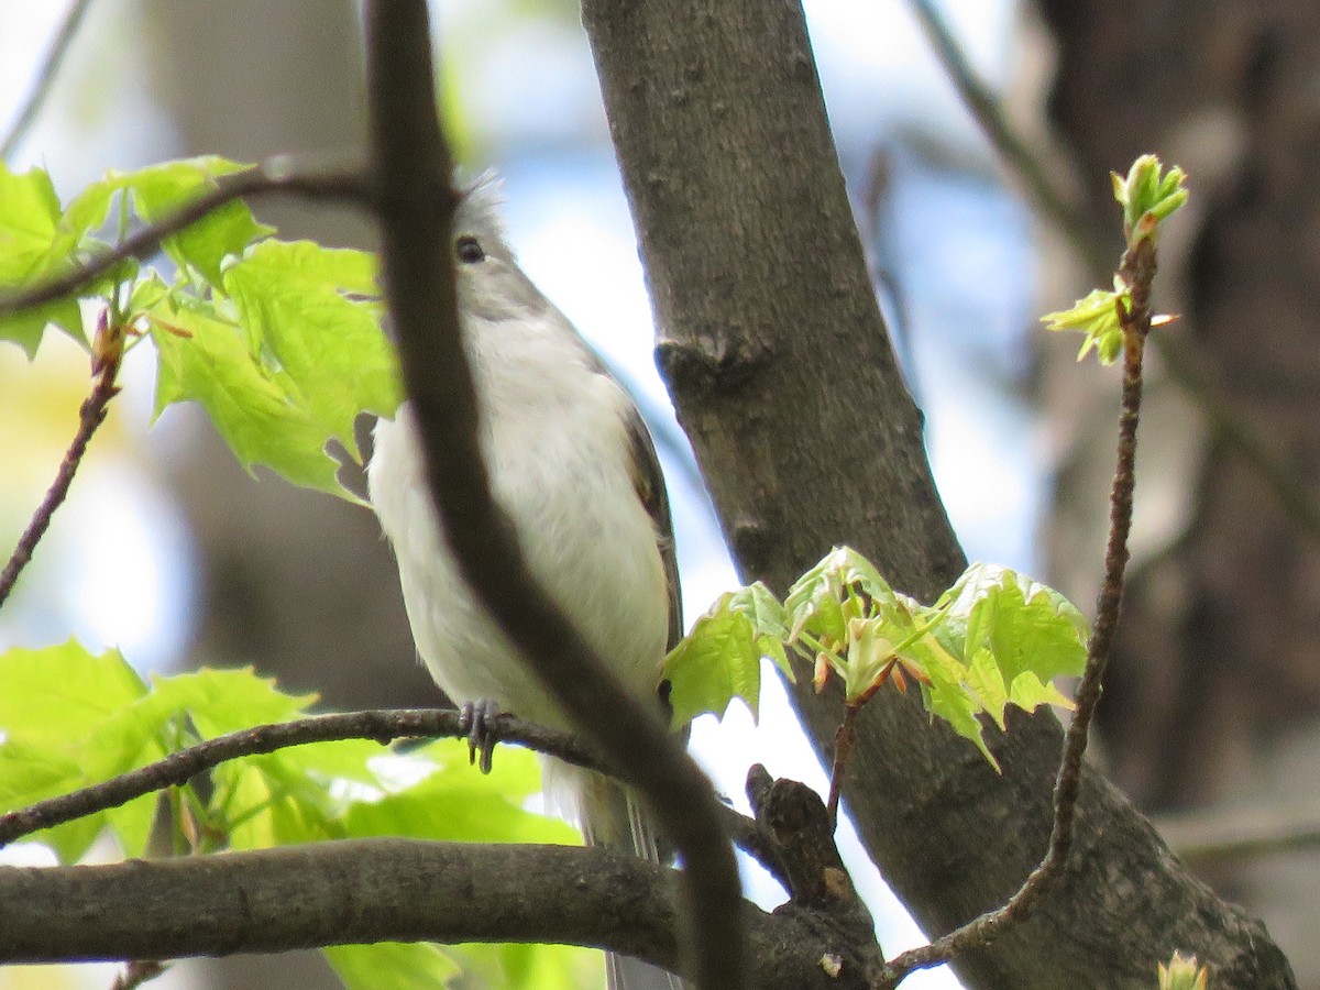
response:
<path id="1" fill-rule="evenodd" d="M 16 174 L 0 165 L 0 292 L 67 273 L 123 239 L 131 222 L 160 220 L 243 168 L 201 157 L 111 172 L 61 205 L 41 169 Z M 0 341 L 33 355 L 55 327 L 92 347 L 83 330 L 91 313 L 129 347 L 152 342 L 157 416 L 198 403 L 249 470 L 265 465 L 352 499 L 326 445 L 338 441 L 360 461 L 358 414 L 389 416 L 401 395 L 380 329 L 376 260 L 272 232 L 231 201 L 165 239 L 172 272 L 125 259 L 81 298 L 0 318 Z"/>

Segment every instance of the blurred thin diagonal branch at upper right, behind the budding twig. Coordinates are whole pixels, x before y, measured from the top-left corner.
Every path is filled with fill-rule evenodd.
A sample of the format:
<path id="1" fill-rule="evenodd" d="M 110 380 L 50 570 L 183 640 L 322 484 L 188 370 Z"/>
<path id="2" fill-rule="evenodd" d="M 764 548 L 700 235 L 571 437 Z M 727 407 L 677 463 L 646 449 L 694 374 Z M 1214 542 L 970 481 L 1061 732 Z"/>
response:
<path id="1" fill-rule="evenodd" d="M 994 91 L 968 63 L 966 55 L 949 30 L 933 0 L 911 0 L 936 54 L 977 124 L 995 150 L 1019 176 L 1040 214 L 1053 223 L 1085 260 L 1098 282 L 1109 280 L 1109 248 L 1096 235 L 1093 224 L 1071 205 L 1069 197 L 1049 178 L 1040 157 L 1008 123 Z M 1320 543 L 1320 503 L 1288 471 L 1267 441 L 1241 413 L 1225 401 L 1225 389 L 1195 360 L 1192 354 L 1168 334 L 1154 338 L 1164 374 L 1196 405 L 1210 433 L 1236 450 L 1257 473 L 1294 525 Z"/>

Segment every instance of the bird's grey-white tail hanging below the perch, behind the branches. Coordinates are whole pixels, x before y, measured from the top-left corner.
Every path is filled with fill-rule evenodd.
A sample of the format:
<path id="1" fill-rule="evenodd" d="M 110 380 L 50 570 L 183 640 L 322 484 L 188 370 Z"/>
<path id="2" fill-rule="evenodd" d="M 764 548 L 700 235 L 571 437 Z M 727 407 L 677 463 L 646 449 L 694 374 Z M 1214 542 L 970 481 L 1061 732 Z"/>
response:
<path id="1" fill-rule="evenodd" d="M 652 863 L 664 862 L 656 832 L 632 788 L 618 780 L 548 760 L 546 783 L 550 792 L 576 803 L 582 837 L 589 846 L 602 846 L 635 855 Z M 558 780 L 556 780 L 558 777 Z M 569 809 L 565 809 L 569 810 Z M 680 977 L 631 956 L 605 953 L 609 990 L 688 990 Z"/>

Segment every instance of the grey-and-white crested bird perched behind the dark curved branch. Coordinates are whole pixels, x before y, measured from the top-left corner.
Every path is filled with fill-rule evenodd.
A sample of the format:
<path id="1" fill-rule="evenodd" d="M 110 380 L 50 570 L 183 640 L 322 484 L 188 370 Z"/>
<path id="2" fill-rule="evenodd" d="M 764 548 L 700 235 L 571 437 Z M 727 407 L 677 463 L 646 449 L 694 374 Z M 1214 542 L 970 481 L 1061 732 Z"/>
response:
<path id="1" fill-rule="evenodd" d="M 527 565 L 614 675 L 660 714 L 660 664 L 682 634 L 669 504 L 632 399 L 573 325 L 523 275 L 504 243 L 490 180 L 454 216 L 463 345 L 482 453 Z M 399 558 L 421 660 L 458 704 L 494 702 L 570 729 L 536 675 L 463 583 L 441 539 L 416 425 L 405 404 L 375 430 L 371 502 Z M 586 841 L 659 862 L 636 795 L 598 774 L 544 760 L 546 795 Z M 611 990 L 669 990 L 676 977 L 607 957 Z"/>

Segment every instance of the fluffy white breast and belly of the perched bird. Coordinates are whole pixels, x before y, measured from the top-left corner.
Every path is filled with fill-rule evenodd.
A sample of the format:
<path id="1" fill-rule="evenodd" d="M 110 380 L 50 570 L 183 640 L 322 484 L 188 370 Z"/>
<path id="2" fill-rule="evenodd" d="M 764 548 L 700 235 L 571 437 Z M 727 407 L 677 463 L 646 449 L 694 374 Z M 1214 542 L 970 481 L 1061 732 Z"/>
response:
<path id="1" fill-rule="evenodd" d="M 557 315 L 557 314 L 556 314 Z M 631 475 L 631 400 L 576 342 L 470 319 L 482 449 L 527 565 L 605 663 L 639 697 L 660 680 L 668 630 L 656 533 Z M 393 543 L 422 661 L 458 704 L 566 727 L 557 706 L 477 606 L 440 537 L 411 409 L 381 420 L 371 500 Z"/>

